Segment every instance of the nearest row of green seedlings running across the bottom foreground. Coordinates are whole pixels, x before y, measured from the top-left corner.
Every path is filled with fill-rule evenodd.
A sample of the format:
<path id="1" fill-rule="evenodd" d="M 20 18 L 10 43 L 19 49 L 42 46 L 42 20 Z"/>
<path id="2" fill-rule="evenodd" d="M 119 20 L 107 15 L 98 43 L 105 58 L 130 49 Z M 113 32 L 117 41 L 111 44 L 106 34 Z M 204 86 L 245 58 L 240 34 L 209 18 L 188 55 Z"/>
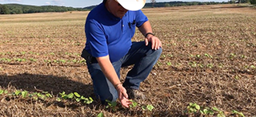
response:
<path id="1" fill-rule="evenodd" d="M 9 96 L 9 98 L 12 99 L 17 99 L 17 98 L 22 98 L 22 99 L 34 99 L 34 100 L 38 100 L 38 99 L 42 99 L 42 100 L 48 100 L 48 99 L 53 99 L 54 96 L 52 94 L 50 94 L 49 92 L 28 92 L 28 91 L 22 91 L 22 90 L 16 90 L 14 92 L 8 92 L 7 90 L 2 90 L 0 89 L 0 96 Z M 62 92 L 59 93 L 59 96 L 57 96 L 55 98 L 56 101 L 61 102 L 63 100 L 71 100 L 71 101 L 76 101 L 76 102 L 81 102 L 81 103 L 86 103 L 86 104 L 90 104 L 94 102 L 94 99 L 92 99 L 91 97 L 86 98 L 84 96 L 81 96 L 80 94 L 78 94 L 78 92 L 71 92 L 69 94 L 66 94 L 66 92 Z M 134 108 L 134 107 L 140 107 L 142 109 L 142 111 L 153 111 L 154 106 L 151 104 L 139 104 L 137 102 L 135 102 L 134 100 L 130 99 L 130 101 L 132 102 L 130 104 L 130 108 Z M 108 103 L 108 105 L 106 106 L 106 108 L 110 108 L 111 111 L 117 111 L 118 106 L 117 106 L 117 102 L 110 102 L 108 100 L 106 100 L 106 102 Z M 221 111 L 220 109 L 218 109 L 217 107 L 201 107 L 199 106 L 197 103 L 190 103 L 187 107 L 185 112 L 188 115 L 202 115 L 202 116 L 218 116 L 218 117 L 225 117 L 226 114 L 224 113 L 224 111 Z M 238 117 L 245 117 L 245 115 L 242 114 L 242 112 L 239 111 L 231 111 L 231 112 L 226 112 L 229 113 L 230 115 L 235 115 Z M 102 112 L 100 112 L 98 114 L 98 117 L 103 117 L 104 114 Z"/>

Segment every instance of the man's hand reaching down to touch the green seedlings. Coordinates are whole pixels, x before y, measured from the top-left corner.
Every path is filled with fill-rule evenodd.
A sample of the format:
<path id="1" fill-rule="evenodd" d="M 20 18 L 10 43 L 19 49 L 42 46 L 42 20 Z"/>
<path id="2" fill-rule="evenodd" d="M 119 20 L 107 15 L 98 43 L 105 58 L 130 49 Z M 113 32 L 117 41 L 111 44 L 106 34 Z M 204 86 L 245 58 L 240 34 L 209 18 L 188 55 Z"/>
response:
<path id="1" fill-rule="evenodd" d="M 118 99 L 122 103 L 122 106 L 129 107 L 131 102 L 128 99 L 128 95 L 126 93 L 126 88 L 123 88 L 122 85 L 118 85 L 117 91 L 118 91 Z"/>

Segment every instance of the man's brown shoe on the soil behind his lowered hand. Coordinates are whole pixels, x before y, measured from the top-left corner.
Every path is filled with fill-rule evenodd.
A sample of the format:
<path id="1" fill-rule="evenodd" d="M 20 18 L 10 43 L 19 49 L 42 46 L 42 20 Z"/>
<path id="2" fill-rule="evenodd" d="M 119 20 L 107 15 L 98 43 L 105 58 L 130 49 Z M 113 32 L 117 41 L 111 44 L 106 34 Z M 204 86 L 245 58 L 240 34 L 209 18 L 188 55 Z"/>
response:
<path id="1" fill-rule="evenodd" d="M 137 89 L 126 88 L 129 99 L 145 100 L 146 96 Z"/>

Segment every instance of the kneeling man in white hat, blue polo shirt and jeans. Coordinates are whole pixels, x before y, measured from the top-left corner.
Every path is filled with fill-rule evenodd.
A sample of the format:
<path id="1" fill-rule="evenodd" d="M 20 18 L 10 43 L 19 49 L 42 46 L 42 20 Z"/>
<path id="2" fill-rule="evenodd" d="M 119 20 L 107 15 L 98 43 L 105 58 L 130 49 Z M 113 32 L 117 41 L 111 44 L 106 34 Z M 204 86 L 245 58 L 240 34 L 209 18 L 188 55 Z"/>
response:
<path id="1" fill-rule="evenodd" d="M 155 37 L 148 18 L 142 13 L 146 0 L 104 0 L 86 18 L 86 47 L 82 57 L 101 99 L 116 101 L 129 107 L 139 94 L 139 85 L 150 74 L 162 53 L 162 43 Z M 132 42 L 135 28 L 145 41 Z M 120 81 L 120 69 L 134 64 L 125 82 Z M 128 94 L 130 98 L 128 97 Z"/>

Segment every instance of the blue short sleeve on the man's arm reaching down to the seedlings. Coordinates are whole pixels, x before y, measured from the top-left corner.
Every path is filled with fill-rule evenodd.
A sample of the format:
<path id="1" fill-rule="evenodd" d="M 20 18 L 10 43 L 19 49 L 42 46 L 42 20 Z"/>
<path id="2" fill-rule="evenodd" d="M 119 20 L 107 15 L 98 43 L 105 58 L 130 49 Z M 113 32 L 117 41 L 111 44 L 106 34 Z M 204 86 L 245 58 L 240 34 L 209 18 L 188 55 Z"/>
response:
<path id="1" fill-rule="evenodd" d="M 93 57 L 105 57 L 108 55 L 104 29 L 97 21 L 86 21 L 86 41 L 90 45 L 90 53 Z"/>

